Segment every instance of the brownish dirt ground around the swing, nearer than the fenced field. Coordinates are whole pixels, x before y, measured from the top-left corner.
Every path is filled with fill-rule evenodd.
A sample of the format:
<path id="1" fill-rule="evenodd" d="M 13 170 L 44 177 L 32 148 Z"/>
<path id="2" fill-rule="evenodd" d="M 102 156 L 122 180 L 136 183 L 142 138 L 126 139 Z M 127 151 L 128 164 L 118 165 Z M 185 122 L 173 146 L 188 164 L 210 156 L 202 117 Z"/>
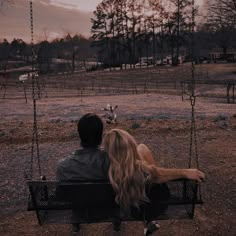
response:
<path id="1" fill-rule="evenodd" d="M 107 103 L 118 105 L 118 127 L 146 143 L 161 166 L 188 166 L 190 101 L 179 94 L 149 93 L 71 98 L 37 102 L 42 173 L 55 179 L 55 166 L 79 146 L 76 122 L 86 112 L 103 115 Z M 26 211 L 24 171 L 29 169 L 32 139 L 32 101 L 0 100 L 0 235 L 70 235 L 70 225 L 39 226 Z M 154 235 L 236 235 L 236 104 L 222 98 L 197 97 L 195 105 L 204 204 L 193 220 L 161 221 Z M 34 177 L 38 177 L 36 160 Z M 112 235 L 110 224 L 82 225 L 80 235 Z M 124 222 L 121 235 L 143 235 L 141 222 Z"/>

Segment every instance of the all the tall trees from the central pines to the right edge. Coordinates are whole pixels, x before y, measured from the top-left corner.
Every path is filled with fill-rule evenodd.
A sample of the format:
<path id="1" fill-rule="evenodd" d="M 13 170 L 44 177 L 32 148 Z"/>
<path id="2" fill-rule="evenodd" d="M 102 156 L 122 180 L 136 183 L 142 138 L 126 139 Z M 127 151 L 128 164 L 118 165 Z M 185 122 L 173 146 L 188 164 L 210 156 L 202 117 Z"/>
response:
<path id="1" fill-rule="evenodd" d="M 235 42 L 236 1 L 209 0 L 204 9 L 200 17 L 193 0 L 103 0 L 92 19 L 93 45 L 111 66 L 167 53 L 176 65 L 181 49 L 193 57 L 193 34 L 195 49 L 221 47 L 226 55 Z"/>

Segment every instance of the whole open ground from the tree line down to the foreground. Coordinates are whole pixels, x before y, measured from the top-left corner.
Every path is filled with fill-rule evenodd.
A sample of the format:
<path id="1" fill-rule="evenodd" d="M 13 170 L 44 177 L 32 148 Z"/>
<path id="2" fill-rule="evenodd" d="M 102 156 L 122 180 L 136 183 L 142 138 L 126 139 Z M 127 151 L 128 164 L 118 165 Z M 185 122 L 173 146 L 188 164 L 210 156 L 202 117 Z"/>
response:
<path id="1" fill-rule="evenodd" d="M 107 103 L 118 105 L 118 123 L 146 143 L 161 166 L 187 167 L 191 106 L 182 101 L 180 81 L 190 78 L 189 66 L 57 75 L 40 81 L 37 101 L 42 172 L 55 179 L 55 166 L 78 145 L 76 121 L 86 112 L 103 115 Z M 235 80 L 234 64 L 201 65 L 197 79 Z M 233 73 L 234 72 L 234 73 Z M 32 139 L 30 83 L 1 80 L 0 90 L 0 235 L 70 235 L 70 226 L 40 227 L 26 212 L 24 170 L 29 168 Z M 4 83 L 3 83 L 4 82 Z M 82 91 L 82 92 L 81 92 Z M 207 176 L 204 204 L 193 220 L 161 222 L 154 235 L 236 235 L 236 104 L 227 104 L 225 84 L 196 85 L 199 165 Z M 37 168 L 34 176 L 37 177 Z M 81 235 L 112 235 L 110 224 L 83 225 Z M 143 235 L 141 222 L 124 223 L 122 236 Z"/>

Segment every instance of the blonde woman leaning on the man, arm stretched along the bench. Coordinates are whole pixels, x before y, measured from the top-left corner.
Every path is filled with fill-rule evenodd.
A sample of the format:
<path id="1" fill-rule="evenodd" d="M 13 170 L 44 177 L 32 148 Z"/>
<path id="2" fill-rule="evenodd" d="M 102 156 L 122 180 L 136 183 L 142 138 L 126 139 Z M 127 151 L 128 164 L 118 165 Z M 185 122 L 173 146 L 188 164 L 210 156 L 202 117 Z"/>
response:
<path id="1" fill-rule="evenodd" d="M 104 149 L 110 159 L 109 180 L 116 194 L 116 202 L 129 209 L 148 201 L 145 194 L 147 181 L 164 183 L 187 178 L 202 182 L 204 173 L 197 169 L 166 169 L 157 166 L 151 151 L 144 144 L 121 129 L 110 130 L 104 138 Z"/>

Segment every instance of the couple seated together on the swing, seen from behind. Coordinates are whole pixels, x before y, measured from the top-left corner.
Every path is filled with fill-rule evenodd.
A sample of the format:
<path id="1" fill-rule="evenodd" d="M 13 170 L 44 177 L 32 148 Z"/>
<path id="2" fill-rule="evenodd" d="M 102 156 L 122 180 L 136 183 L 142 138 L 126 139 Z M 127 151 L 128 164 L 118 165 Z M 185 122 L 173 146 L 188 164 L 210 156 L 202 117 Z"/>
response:
<path id="1" fill-rule="evenodd" d="M 112 129 L 103 138 L 103 122 L 88 113 L 78 122 L 81 148 L 58 163 L 59 181 L 107 180 L 123 208 L 138 207 L 147 201 L 145 186 L 186 178 L 202 182 L 204 173 L 197 169 L 167 169 L 157 165 L 151 151 L 137 144 L 126 131 Z M 103 140 L 102 140 L 103 139 Z M 103 143 L 103 148 L 100 146 Z"/>

